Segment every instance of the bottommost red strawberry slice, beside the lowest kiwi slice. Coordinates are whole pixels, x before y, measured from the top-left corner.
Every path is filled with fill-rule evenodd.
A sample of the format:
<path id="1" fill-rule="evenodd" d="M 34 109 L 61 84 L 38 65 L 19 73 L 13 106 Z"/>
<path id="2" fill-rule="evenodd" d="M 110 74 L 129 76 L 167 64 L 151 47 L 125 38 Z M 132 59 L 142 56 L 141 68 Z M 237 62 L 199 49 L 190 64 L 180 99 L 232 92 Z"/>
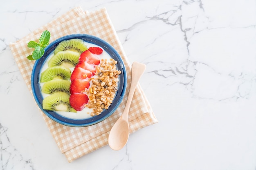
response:
<path id="1" fill-rule="evenodd" d="M 85 107 L 85 104 L 88 103 L 88 96 L 86 94 L 71 94 L 70 95 L 70 105 L 76 110 L 81 111 Z"/>

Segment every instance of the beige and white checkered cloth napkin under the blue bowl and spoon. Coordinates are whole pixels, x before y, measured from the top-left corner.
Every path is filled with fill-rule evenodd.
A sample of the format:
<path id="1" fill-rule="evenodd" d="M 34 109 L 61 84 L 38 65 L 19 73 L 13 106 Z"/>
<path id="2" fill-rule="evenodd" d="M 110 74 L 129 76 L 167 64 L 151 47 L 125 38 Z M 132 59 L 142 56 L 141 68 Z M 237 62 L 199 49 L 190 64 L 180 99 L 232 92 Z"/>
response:
<path id="1" fill-rule="evenodd" d="M 131 65 L 128 62 L 124 50 L 119 42 L 115 29 L 110 21 L 105 8 L 96 11 L 83 11 L 81 7 L 76 7 L 67 13 L 61 15 L 45 26 L 30 33 L 23 39 L 10 44 L 14 59 L 20 69 L 20 72 L 31 92 L 31 71 L 34 61 L 29 61 L 26 57 L 31 54 L 32 50 L 27 48 L 30 40 L 37 40 L 41 33 L 48 30 L 51 33 L 50 41 L 70 34 L 89 34 L 107 41 L 120 54 L 124 61 L 127 71 L 127 90 L 124 100 L 117 110 L 106 120 L 88 126 L 88 127 L 69 127 L 58 124 L 48 118 L 40 109 L 49 131 L 54 137 L 56 144 L 61 152 L 65 154 L 69 162 L 86 155 L 98 148 L 108 144 L 108 134 L 111 127 L 121 115 L 130 89 Z M 32 92 L 31 92 L 32 94 Z M 39 108 L 39 107 L 38 107 Z M 157 119 L 150 107 L 144 92 L 140 85 L 137 85 L 135 94 L 129 112 L 130 133 L 133 133 L 143 127 L 157 123 Z"/>

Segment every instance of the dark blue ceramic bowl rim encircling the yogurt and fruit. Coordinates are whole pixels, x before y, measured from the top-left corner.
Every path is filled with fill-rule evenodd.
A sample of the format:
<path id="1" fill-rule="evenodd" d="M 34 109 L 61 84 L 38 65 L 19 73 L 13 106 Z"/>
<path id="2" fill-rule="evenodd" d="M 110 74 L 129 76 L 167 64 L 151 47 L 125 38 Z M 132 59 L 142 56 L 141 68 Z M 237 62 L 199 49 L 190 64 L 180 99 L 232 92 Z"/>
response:
<path id="1" fill-rule="evenodd" d="M 121 70 L 121 72 L 122 72 L 119 75 L 118 91 L 117 91 L 117 94 L 116 94 L 112 104 L 110 105 L 110 107 L 107 110 L 106 109 L 103 110 L 103 112 L 101 112 L 101 114 L 99 116 L 94 116 L 94 117 L 85 118 L 85 119 L 71 119 L 71 118 L 64 117 L 54 111 L 44 110 L 43 106 L 42 106 L 43 96 L 42 96 L 41 87 L 39 84 L 39 80 L 40 80 L 39 76 L 40 76 L 42 66 L 44 65 L 45 61 L 47 60 L 47 57 L 49 57 L 52 54 L 52 52 L 54 51 L 56 46 L 61 41 L 68 40 L 68 39 L 74 39 L 74 38 L 82 39 L 85 42 L 88 42 L 91 44 L 96 44 L 97 46 L 100 46 L 101 48 L 103 48 L 103 50 L 108 52 L 110 57 L 112 57 L 113 59 L 115 59 L 118 62 L 116 65 L 117 70 Z M 51 44 L 49 44 L 45 48 L 45 54 L 43 55 L 43 57 L 36 60 L 36 62 L 34 63 L 32 74 L 31 74 L 31 87 L 32 87 L 33 96 L 36 100 L 36 103 L 38 104 L 40 109 L 43 111 L 43 113 L 45 113 L 45 115 L 47 115 L 49 118 L 51 118 L 55 122 L 58 122 L 60 124 L 66 125 L 66 126 L 73 126 L 73 127 L 91 126 L 93 124 L 97 124 L 97 123 L 105 120 L 106 118 L 108 118 L 117 109 L 117 107 L 120 105 L 121 101 L 123 100 L 124 94 L 126 91 L 126 84 L 127 84 L 126 69 L 124 66 L 124 62 L 122 61 L 122 59 L 119 56 L 119 54 L 117 53 L 117 51 L 112 46 L 110 46 L 110 44 L 108 44 L 106 41 L 103 41 L 102 39 L 99 39 L 98 37 L 94 37 L 92 35 L 86 35 L 86 34 L 67 35 L 67 36 L 61 37 L 61 38 L 53 41 Z"/>

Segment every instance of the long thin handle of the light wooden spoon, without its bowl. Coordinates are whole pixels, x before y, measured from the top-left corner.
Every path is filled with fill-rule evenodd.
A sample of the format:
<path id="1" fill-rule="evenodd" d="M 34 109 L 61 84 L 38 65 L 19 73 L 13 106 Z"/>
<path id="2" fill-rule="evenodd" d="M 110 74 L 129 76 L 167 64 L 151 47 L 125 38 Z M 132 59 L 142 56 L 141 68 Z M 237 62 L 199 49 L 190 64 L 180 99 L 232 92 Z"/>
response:
<path id="1" fill-rule="evenodd" d="M 132 97 L 134 95 L 137 83 L 139 82 L 139 78 L 141 78 L 142 74 L 146 70 L 146 65 L 143 63 L 138 63 L 137 61 L 132 63 L 132 80 L 131 80 L 131 85 L 130 85 L 130 91 L 128 94 L 128 99 L 126 102 L 126 106 L 124 108 L 124 112 L 121 115 L 122 118 L 128 120 L 128 113 L 130 109 L 130 105 L 132 102 Z"/>

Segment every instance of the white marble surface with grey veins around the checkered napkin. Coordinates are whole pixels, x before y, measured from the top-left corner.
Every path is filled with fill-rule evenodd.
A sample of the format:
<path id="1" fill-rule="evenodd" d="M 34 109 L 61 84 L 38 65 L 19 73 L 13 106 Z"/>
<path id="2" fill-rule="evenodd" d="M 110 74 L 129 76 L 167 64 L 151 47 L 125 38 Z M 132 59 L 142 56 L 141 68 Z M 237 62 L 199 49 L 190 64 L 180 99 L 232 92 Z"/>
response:
<path id="1" fill-rule="evenodd" d="M 106 7 L 158 123 L 68 163 L 9 43 L 81 6 Z M 0 170 L 255 170 L 255 0 L 9 0 L 0 6 Z"/>

